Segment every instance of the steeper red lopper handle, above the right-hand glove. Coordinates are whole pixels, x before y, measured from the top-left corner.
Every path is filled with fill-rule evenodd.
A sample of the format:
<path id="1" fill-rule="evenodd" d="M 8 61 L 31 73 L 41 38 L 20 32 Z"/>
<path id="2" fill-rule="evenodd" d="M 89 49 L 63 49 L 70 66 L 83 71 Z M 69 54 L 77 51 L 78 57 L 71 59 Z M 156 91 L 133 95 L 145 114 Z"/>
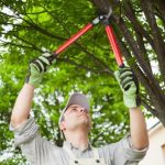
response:
<path id="1" fill-rule="evenodd" d="M 114 53 L 114 56 L 116 56 L 116 61 L 117 61 L 118 65 L 120 67 L 122 67 L 124 64 L 123 64 L 121 52 L 120 52 L 120 48 L 118 46 L 114 33 L 113 33 L 113 29 L 110 25 L 106 25 L 106 32 L 107 32 L 109 42 L 112 46 L 112 50 L 113 50 L 113 53 Z"/>

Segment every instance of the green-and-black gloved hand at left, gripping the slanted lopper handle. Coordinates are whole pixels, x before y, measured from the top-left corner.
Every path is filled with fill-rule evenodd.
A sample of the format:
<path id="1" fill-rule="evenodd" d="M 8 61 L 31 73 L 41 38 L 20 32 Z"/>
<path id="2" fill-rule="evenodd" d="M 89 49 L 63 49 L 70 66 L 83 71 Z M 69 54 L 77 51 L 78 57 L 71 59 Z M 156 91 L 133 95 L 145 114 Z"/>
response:
<path id="1" fill-rule="evenodd" d="M 25 82 L 37 87 L 42 81 L 43 74 L 47 70 L 47 67 L 52 65 L 53 61 L 56 61 L 56 58 L 50 53 L 44 53 L 42 56 L 33 59 L 30 63 Z"/>

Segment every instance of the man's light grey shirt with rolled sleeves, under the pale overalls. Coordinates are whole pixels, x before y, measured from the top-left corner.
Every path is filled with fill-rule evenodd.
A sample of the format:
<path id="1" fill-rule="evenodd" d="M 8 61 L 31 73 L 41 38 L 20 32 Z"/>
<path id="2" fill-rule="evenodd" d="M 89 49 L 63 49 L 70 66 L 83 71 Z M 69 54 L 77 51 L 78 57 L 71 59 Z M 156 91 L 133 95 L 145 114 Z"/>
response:
<path id="1" fill-rule="evenodd" d="M 44 140 L 38 133 L 38 127 L 34 118 L 11 130 L 14 131 L 15 146 L 21 146 L 22 153 L 32 165 L 68 165 L 69 156 L 63 150 L 52 142 Z M 79 151 L 69 142 L 65 141 L 77 158 L 92 158 L 94 153 L 89 144 L 85 151 Z M 130 135 L 121 141 L 97 147 L 100 158 L 103 158 L 107 165 L 138 165 L 145 156 L 147 148 L 135 150 L 131 145 Z"/>

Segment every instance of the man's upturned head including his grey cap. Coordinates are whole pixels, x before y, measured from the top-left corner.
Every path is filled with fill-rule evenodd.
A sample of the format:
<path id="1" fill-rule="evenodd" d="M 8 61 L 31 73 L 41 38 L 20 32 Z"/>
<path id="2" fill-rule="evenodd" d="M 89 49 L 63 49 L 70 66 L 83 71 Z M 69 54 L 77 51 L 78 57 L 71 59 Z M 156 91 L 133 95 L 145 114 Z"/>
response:
<path id="1" fill-rule="evenodd" d="M 76 130 L 90 131 L 91 119 L 89 101 L 82 94 L 75 92 L 61 113 L 59 128 L 64 134 Z"/>

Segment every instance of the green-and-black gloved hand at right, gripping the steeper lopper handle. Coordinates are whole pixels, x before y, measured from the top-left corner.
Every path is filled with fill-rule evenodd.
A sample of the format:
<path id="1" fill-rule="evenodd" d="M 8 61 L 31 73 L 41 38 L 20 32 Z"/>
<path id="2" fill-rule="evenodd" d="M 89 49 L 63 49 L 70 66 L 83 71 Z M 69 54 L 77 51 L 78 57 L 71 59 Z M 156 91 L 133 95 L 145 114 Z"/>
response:
<path id="1" fill-rule="evenodd" d="M 124 105 L 131 109 L 141 105 L 139 96 L 139 80 L 129 67 L 120 68 L 114 72 L 116 79 L 123 92 Z"/>

